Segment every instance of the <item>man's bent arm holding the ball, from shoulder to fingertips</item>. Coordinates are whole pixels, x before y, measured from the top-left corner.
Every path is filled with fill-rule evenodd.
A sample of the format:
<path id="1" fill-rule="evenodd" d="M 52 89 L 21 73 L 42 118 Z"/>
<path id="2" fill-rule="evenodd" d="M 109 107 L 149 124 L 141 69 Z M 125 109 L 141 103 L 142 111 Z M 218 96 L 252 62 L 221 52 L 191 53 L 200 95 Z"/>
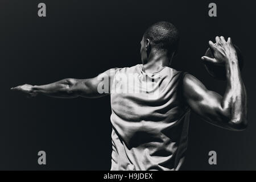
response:
<path id="1" fill-rule="evenodd" d="M 214 59 L 203 56 L 204 61 L 225 64 L 226 91 L 224 97 L 210 91 L 190 74 L 183 80 L 183 93 L 188 105 L 206 121 L 233 131 L 244 130 L 247 126 L 246 90 L 243 85 L 236 49 L 231 39 L 216 37 L 216 44 L 209 42 Z"/>

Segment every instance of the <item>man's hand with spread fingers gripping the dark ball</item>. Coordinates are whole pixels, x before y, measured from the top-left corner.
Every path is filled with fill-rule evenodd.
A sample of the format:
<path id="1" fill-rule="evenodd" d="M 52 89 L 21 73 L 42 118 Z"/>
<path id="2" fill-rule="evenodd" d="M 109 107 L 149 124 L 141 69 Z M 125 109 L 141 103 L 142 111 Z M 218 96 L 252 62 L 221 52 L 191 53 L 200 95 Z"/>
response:
<path id="1" fill-rule="evenodd" d="M 216 43 L 214 44 L 212 41 L 209 41 L 209 46 L 214 58 L 203 56 L 201 58 L 203 61 L 218 65 L 225 65 L 229 61 L 236 61 L 238 63 L 237 52 L 231 38 L 228 38 L 228 41 L 226 41 L 223 36 L 216 36 Z"/>

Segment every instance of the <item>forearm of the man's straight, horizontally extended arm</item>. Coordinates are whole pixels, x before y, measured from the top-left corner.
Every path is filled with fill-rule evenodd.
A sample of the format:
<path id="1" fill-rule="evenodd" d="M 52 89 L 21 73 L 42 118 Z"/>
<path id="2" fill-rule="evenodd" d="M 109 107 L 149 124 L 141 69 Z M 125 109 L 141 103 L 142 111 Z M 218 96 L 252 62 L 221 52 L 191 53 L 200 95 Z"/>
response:
<path id="1" fill-rule="evenodd" d="M 56 81 L 47 85 L 34 85 L 32 87 L 32 93 L 44 94 L 58 98 L 74 98 L 78 96 L 75 89 L 73 89 L 76 82 L 77 79 L 65 78 L 64 80 Z"/>

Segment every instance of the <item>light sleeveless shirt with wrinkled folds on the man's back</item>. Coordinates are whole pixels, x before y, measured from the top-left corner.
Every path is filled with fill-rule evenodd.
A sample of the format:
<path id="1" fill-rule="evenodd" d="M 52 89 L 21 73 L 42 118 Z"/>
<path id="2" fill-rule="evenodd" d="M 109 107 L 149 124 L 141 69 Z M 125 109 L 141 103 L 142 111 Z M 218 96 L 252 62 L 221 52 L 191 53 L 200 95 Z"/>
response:
<path id="1" fill-rule="evenodd" d="M 111 170 L 180 168 L 190 114 L 181 94 L 183 76 L 170 67 L 154 74 L 145 73 L 140 64 L 116 69 L 110 94 Z"/>

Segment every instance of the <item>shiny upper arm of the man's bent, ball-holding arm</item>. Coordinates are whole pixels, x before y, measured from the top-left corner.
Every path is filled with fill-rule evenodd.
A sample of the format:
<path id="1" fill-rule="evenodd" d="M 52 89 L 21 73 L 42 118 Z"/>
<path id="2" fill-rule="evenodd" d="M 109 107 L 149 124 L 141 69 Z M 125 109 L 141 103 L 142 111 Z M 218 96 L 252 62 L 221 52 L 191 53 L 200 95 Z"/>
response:
<path id="1" fill-rule="evenodd" d="M 201 118 L 226 128 L 229 110 L 222 107 L 222 96 L 208 90 L 197 78 L 186 74 L 183 79 L 183 94 L 187 104 Z"/>

